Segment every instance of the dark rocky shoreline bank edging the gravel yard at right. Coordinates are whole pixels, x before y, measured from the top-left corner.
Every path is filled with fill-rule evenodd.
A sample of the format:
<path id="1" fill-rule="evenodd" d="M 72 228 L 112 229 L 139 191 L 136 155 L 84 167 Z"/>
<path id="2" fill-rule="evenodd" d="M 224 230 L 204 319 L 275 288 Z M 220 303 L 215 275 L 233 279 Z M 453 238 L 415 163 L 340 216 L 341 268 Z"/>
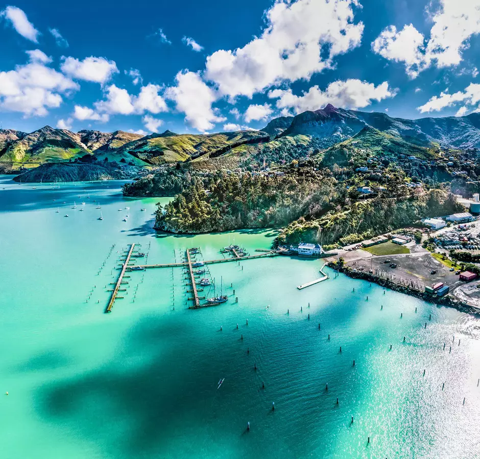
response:
<path id="1" fill-rule="evenodd" d="M 396 284 L 394 282 L 389 281 L 388 279 L 383 279 L 369 272 L 357 271 L 356 269 L 351 269 L 348 266 L 339 267 L 335 262 L 332 262 L 332 261 L 329 261 L 327 263 L 327 266 L 353 279 L 361 279 L 363 281 L 374 282 L 380 287 L 385 287 L 390 290 L 394 290 L 396 292 L 404 293 L 405 295 L 415 296 L 416 298 L 419 298 L 423 301 L 439 304 L 442 306 L 447 306 L 449 308 L 454 308 L 457 311 L 473 314 L 477 317 L 480 317 L 480 310 L 460 300 L 455 300 L 449 296 L 432 296 L 429 293 L 421 292 L 419 290 L 415 290 L 410 287 L 405 287 L 403 285 Z"/>

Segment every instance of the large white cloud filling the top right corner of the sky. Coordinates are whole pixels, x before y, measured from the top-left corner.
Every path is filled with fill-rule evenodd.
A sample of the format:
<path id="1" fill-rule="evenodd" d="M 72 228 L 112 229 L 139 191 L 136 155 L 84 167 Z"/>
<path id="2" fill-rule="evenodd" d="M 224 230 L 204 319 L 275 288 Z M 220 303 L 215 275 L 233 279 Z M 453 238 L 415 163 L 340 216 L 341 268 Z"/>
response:
<path id="1" fill-rule="evenodd" d="M 478 2 L 440 0 L 431 21 L 428 39 L 412 24 L 405 25 L 401 31 L 391 25 L 381 32 L 372 48 L 388 60 L 403 62 L 412 78 L 430 65 L 441 68 L 460 64 L 470 38 L 480 33 Z"/>

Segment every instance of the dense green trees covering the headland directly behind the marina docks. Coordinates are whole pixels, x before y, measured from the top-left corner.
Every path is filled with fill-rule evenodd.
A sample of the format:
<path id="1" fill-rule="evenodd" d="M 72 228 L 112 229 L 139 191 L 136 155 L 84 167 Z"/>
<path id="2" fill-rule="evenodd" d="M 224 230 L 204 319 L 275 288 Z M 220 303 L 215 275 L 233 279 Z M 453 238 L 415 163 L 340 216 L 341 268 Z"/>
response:
<path id="1" fill-rule="evenodd" d="M 158 206 L 155 227 L 203 233 L 286 225 L 328 208 L 335 184 L 313 168 L 295 168 L 284 176 L 247 172 L 195 177 L 164 209 Z"/>

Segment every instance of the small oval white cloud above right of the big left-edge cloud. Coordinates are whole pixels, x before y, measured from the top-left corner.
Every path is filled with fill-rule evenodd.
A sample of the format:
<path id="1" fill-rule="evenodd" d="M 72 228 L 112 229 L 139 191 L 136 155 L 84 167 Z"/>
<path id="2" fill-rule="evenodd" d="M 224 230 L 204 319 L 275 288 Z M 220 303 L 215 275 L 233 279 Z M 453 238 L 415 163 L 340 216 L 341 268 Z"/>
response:
<path id="1" fill-rule="evenodd" d="M 63 57 L 61 65 L 63 73 L 77 80 L 104 84 L 114 73 L 118 73 L 115 62 L 103 57 L 87 57 L 83 61 L 73 57 Z"/>

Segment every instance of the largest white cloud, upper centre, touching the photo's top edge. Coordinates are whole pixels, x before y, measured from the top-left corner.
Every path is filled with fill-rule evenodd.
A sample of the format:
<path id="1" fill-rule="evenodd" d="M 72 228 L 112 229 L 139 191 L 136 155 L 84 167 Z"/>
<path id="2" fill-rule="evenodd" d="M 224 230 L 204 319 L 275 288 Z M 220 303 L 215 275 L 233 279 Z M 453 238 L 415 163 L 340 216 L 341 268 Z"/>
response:
<path id="1" fill-rule="evenodd" d="M 276 0 L 260 37 L 242 48 L 213 53 L 205 78 L 231 98 L 309 79 L 360 44 L 364 25 L 353 22 L 354 7 L 359 7 L 357 0 Z"/>

